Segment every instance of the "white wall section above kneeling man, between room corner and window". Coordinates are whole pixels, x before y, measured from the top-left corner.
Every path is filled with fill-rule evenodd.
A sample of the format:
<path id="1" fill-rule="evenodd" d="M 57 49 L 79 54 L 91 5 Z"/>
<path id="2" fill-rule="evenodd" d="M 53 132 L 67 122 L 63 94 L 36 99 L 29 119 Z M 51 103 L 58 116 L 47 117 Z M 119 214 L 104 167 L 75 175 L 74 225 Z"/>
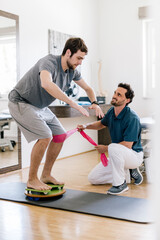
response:
<path id="1" fill-rule="evenodd" d="M 107 101 L 118 83 L 129 83 L 135 91 L 130 106 L 140 117 L 153 111 L 152 101 L 142 97 L 142 21 L 138 19 L 138 8 L 146 5 L 147 0 L 101 0 L 99 14 L 99 58 Z"/>

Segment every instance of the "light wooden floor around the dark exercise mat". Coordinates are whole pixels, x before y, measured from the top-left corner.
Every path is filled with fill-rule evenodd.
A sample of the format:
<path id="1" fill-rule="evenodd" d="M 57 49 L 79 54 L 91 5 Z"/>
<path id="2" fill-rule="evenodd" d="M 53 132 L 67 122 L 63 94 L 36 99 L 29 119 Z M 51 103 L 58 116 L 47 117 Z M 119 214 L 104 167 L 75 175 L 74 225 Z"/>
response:
<path id="1" fill-rule="evenodd" d="M 66 188 L 106 193 L 111 185 L 92 186 L 89 171 L 98 163 L 96 151 L 56 161 L 53 174 Z M 41 173 L 43 165 L 40 167 Z M 2 182 L 26 182 L 28 168 L 0 176 Z M 124 196 L 148 198 L 147 183 L 129 184 Z M 1 240 L 154 240 L 154 225 L 0 201 Z"/>

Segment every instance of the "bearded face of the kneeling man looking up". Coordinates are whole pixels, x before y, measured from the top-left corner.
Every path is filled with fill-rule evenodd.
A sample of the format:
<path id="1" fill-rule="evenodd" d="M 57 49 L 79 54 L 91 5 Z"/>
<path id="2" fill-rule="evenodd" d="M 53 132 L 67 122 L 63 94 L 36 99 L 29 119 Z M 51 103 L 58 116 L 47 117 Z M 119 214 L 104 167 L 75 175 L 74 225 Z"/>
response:
<path id="1" fill-rule="evenodd" d="M 114 92 L 111 104 L 115 107 L 118 106 L 125 106 L 127 103 L 130 102 L 129 98 L 126 98 L 125 93 L 127 90 L 122 87 L 118 87 L 117 90 Z"/>

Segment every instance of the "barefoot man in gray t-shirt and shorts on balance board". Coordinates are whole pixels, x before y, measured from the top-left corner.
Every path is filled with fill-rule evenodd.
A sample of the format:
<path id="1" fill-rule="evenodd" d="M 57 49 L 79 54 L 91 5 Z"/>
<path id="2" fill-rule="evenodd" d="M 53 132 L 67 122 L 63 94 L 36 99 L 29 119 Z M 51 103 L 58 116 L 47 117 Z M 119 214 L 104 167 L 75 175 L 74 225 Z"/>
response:
<path id="1" fill-rule="evenodd" d="M 63 184 L 51 176 L 52 166 L 62 148 L 62 143 L 51 140 L 54 135 L 64 134 L 66 131 L 48 106 L 55 99 L 59 99 L 82 115 L 89 116 L 82 106 L 64 94 L 72 80 L 86 91 L 91 101 L 89 108 L 95 110 L 96 116 L 104 115 L 98 106 L 93 89 L 76 70 L 76 67 L 82 64 L 87 52 L 88 49 L 82 39 L 68 39 L 62 55 L 49 54 L 40 59 L 9 94 L 8 106 L 13 119 L 28 142 L 37 140 L 31 152 L 28 188 L 47 190 L 50 189 L 46 184 L 48 182 Z M 39 179 L 38 168 L 46 149 L 46 161 Z"/>

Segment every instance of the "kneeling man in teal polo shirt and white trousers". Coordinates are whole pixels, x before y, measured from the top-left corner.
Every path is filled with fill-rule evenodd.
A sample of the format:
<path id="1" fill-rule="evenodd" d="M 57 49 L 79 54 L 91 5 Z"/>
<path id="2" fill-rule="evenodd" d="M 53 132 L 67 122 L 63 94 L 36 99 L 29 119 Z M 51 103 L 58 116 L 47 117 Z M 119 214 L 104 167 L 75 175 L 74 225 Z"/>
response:
<path id="1" fill-rule="evenodd" d="M 141 125 L 136 113 L 127 105 L 132 102 L 134 92 L 130 85 L 120 83 L 112 97 L 111 107 L 100 121 L 78 125 L 79 131 L 84 129 L 100 130 L 109 128 L 112 143 L 98 145 L 99 153 L 108 153 L 109 164 L 104 167 L 100 162 L 89 174 L 92 184 L 112 183 L 109 194 L 120 194 L 128 190 L 127 175 L 139 185 L 143 181 L 138 167 L 143 162 L 141 146 Z M 129 174 L 130 169 L 130 174 Z"/>

